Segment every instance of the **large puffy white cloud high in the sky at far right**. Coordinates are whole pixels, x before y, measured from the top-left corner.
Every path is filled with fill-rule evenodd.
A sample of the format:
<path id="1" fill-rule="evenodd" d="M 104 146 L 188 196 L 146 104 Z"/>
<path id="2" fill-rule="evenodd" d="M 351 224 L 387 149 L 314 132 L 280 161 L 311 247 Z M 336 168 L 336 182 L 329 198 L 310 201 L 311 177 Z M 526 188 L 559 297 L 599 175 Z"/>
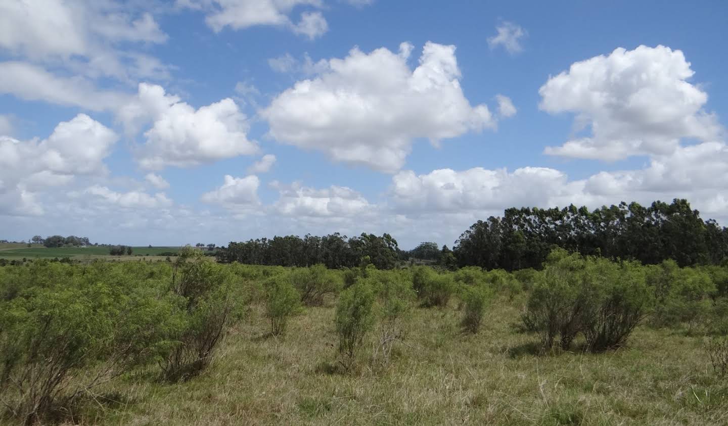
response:
<path id="1" fill-rule="evenodd" d="M 576 114 L 591 135 L 546 154 L 616 160 L 670 154 L 682 138 L 711 141 L 721 132 L 703 110 L 708 95 L 687 80 L 694 72 L 680 50 L 640 46 L 573 63 L 540 89 L 540 108 Z"/>

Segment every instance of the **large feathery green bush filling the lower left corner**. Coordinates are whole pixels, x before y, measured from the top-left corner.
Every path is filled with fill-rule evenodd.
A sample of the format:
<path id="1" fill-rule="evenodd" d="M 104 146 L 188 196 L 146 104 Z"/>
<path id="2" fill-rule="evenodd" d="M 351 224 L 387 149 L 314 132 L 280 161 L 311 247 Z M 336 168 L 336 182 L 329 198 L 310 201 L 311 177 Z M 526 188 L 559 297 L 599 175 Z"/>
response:
<path id="1" fill-rule="evenodd" d="M 174 299 L 128 279 L 126 267 L 77 274 L 39 262 L 23 290 L 0 301 L 0 399 L 10 415 L 39 422 L 168 347 Z"/>

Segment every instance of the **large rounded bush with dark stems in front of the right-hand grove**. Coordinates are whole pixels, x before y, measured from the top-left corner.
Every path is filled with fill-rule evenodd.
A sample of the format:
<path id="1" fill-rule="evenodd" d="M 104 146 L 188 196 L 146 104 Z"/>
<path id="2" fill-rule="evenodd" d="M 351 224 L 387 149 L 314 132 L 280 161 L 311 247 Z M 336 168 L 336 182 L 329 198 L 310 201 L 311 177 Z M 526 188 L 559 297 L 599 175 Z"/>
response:
<path id="1" fill-rule="evenodd" d="M 522 319 L 525 328 L 539 332 L 545 348 L 558 336 L 567 350 L 583 333 L 587 349 L 602 352 L 625 343 L 651 302 L 641 265 L 559 249 L 537 276 Z"/>

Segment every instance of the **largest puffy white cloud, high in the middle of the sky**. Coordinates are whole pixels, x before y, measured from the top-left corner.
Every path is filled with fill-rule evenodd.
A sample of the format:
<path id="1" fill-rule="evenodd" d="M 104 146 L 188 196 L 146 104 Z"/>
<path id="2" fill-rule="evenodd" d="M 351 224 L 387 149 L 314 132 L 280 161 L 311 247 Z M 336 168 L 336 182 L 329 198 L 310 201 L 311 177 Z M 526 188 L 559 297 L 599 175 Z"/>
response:
<path id="1" fill-rule="evenodd" d="M 400 52 L 354 48 L 328 60 L 328 71 L 297 82 L 261 112 L 269 135 L 337 162 L 395 172 L 415 138 L 433 143 L 496 126 L 485 105 L 471 106 L 459 83 L 455 47 L 427 42 L 419 66 Z"/>

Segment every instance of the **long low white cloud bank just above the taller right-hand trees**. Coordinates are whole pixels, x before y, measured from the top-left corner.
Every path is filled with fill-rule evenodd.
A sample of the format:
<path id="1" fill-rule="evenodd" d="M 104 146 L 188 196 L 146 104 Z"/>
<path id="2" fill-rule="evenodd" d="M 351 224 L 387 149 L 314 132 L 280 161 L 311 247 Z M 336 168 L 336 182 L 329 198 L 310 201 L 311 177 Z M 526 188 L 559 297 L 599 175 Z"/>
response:
<path id="1" fill-rule="evenodd" d="M 545 167 L 505 169 L 441 169 L 416 175 L 410 170 L 392 177 L 389 204 L 408 217 L 438 214 L 479 218 L 501 215 L 510 207 L 564 207 L 622 201 L 642 203 L 687 198 L 705 217 L 728 219 L 728 146 L 705 142 L 655 155 L 636 170 L 603 171 L 579 180 Z M 463 224 L 463 226 L 466 224 Z"/>

